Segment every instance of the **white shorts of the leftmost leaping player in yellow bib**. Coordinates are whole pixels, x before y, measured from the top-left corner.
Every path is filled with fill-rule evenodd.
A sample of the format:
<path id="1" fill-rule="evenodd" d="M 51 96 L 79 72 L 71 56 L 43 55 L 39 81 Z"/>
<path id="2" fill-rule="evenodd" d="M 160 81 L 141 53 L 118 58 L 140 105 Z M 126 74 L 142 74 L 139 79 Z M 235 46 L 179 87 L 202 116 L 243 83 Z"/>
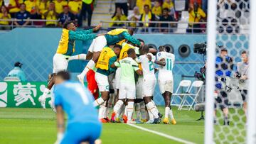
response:
<path id="1" fill-rule="evenodd" d="M 68 68 L 68 60 L 66 59 L 68 56 L 62 55 L 59 53 L 55 53 L 53 56 L 53 73 L 60 72 L 62 70 L 67 70 Z"/>

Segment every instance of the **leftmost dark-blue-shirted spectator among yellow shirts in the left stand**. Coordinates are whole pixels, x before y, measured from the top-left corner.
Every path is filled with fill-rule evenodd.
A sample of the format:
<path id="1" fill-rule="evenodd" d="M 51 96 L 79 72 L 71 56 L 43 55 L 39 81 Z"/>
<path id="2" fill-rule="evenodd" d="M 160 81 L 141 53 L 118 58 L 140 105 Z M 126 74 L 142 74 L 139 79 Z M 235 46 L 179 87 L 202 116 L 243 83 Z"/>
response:
<path id="1" fill-rule="evenodd" d="M 15 14 L 15 19 L 16 20 L 21 20 L 21 21 L 14 21 L 15 26 L 27 26 L 29 21 L 23 21 L 23 20 L 28 20 L 30 19 L 30 13 L 26 11 L 26 4 L 21 4 L 20 6 L 21 11 Z"/>

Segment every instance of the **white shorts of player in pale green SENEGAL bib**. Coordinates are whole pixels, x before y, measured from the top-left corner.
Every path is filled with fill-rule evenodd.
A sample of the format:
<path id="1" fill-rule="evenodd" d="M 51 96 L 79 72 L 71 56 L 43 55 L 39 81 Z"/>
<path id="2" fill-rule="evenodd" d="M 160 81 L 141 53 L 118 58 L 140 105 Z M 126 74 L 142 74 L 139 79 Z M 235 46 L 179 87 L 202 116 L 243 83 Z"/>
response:
<path id="1" fill-rule="evenodd" d="M 129 83 L 122 82 L 120 84 L 118 99 L 136 99 L 135 84 L 129 84 Z"/>

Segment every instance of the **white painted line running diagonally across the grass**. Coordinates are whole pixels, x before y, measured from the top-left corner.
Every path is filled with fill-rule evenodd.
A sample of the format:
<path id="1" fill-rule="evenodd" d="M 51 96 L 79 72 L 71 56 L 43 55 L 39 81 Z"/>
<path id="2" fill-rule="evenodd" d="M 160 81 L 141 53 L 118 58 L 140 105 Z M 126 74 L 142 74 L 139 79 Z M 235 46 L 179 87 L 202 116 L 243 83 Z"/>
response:
<path id="1" fill-rule="evenodd" d="M 134 124 L 127 124 L 127 125 L 132 126 L 132 127 L 134 127 L 134 128 L 138 128 L 138 129 L 140 129 L 140 130 L 142 130 L 142 131 L 147 131 L 147 132 L 149 132 L 149 133 L 154 133 L 154 134 L 156 134 L 156 135 L 160 135 L 160 136 L 162 136 L 162 137 L 164 137 L 164 138 L 169 138 L 169 139 L 171 139 L 171 140 L 178 141 L 178 142 L 180 142 L 180 143 L 194 144 L 193 142 L 190 142 L 190 141 L 187 141 L 187 140 L 183 140 L 183 139 L 181 139 L 181 138 L 176 138 L 176 137 L 171 136 L 171 135 L 166 135 L 166 134 L 160 133 L 160 132 L 158 132 L 158 131 L 153 131 L 153 130 L 150 130 L 150 129 L 148 129 L 148 128 L 143 128 L 143 127 L 141 127 L 141 126 L 136 126 L 136 125 L 134 125 Z"/>

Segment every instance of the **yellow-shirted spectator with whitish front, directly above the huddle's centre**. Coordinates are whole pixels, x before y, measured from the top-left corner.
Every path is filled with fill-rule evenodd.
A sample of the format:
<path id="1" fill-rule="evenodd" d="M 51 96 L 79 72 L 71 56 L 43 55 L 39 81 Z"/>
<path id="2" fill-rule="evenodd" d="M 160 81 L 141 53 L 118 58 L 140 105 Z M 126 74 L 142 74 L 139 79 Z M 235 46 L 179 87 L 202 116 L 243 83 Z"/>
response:
<path id="1" fill-rule="evenodd" d="M 146 23 L 141 23 L 141 26 L 144 27 L 142 29 L 142 31 L 143 32 L 144 31 L 151 32 L 151 28 L 149 28 L 149 27 L 154 27 L 155 23 L 150 23 L 150 21 L 156 21 L 156 16 L 154 16 L 154 14 L 151 13 L 151 11 L 149 9 L 149 5 L 144 6 L 144 13 L 142 13 L 140 21 L 146 22 Z"/>

